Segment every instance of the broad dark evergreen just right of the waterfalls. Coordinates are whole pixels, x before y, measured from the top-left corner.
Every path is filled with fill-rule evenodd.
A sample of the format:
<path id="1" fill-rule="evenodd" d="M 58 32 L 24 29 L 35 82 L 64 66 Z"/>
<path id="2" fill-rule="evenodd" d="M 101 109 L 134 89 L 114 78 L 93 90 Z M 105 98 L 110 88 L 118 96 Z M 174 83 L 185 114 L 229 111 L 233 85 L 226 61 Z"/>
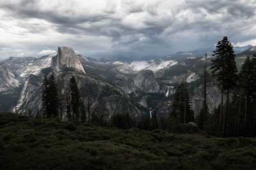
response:
<path id="1" fill-rule="evenodd" d="M 185 101 L 186 100 L 186 101 Z M 184 111 L 186 108 L 186 122 L 184 122 Z M 184 83 L 181 83 L 177 88 L 172 103 L 172 113 L 170 117 L 179 119 L 180 124 L 195 122 L 194 113 L 191 109 L 191 101 L 188 95 L 188 89 L 185 88 Z"/>

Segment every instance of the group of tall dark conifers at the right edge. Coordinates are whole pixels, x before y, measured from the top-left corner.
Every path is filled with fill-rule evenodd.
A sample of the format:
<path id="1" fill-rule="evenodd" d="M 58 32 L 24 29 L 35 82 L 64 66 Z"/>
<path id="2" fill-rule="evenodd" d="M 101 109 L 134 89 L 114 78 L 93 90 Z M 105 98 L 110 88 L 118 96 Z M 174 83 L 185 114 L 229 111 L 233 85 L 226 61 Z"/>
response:
<path id="1" fill-rule="evenodd" d="M 212 60 L 210 71 L 221 91 L 220 105 L 209 113 L 207 104 L 203 104 L 196 118 L 198 125 L 221 137 L 255 137 L 256 55 L 246 57 L 238 73 L 233 46 L 224 37 L 218 41 L 213 56 L 216 58 Z"/>

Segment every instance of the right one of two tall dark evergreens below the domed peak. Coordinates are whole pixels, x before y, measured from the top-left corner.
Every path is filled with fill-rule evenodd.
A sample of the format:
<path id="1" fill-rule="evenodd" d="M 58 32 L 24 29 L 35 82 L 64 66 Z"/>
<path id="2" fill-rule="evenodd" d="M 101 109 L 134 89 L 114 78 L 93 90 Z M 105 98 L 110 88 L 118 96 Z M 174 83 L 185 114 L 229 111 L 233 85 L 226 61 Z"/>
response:
<path id="1" fill-rule="evenodd" d="M 73 122 L 79 122 L 79 104 L 80 96 L 79 89 L 77 87 L 76 78 L 72 76 L 69 84 L 70 89 L 70 108 L 72 110 L 72 120 Z"/>

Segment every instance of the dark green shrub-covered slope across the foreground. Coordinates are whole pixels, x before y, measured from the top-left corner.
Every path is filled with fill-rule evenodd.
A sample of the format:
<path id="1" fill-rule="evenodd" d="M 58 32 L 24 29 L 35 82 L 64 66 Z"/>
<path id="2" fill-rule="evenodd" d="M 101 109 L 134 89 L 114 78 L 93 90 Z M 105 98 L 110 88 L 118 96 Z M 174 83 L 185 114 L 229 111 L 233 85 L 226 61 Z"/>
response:
<path id="1" fill-rule="evenodd" d="M 255 169 L 256 139 L 74 125 L 0 113 L 0 169 Z"/>

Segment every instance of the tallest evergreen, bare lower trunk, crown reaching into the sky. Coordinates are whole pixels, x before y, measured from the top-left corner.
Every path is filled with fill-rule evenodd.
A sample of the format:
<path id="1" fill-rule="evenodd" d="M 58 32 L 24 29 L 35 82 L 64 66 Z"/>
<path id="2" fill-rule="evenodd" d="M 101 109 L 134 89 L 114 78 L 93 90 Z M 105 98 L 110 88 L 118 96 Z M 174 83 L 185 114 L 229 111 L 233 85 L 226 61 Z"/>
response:
<path id="1" fill-rule="evenodd" d="M 227 132 L 227 115 L 228 115 L 228 99 L 230 89 L 236 86 L 237 68 L 235 62 L 235 54 L 233 46 L 228 38 L 225 36 L 221 41 L 218 41 L 216 51 L 213 54 L 216 59 L 212 60 L 212 75 L 220 83 L 221 87 L 221 113 L 220 113 L 220 126 L 222 136 L 226 136 Z M 227 92 L 226 110 L 223 114 L 223 94 Z"/>

